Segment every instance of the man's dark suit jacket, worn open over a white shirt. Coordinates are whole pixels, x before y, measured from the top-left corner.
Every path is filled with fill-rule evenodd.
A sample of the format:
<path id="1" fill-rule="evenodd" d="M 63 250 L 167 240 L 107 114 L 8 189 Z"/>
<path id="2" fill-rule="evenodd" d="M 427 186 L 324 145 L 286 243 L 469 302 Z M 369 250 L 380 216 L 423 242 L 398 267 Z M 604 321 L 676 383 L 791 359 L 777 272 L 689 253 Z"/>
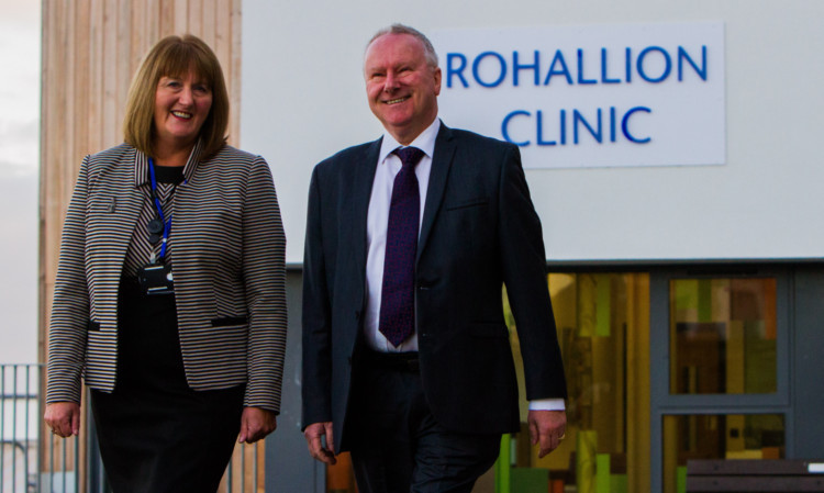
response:
<path id="1" fill-rule="evenodd" d="M 312 175 L 303 273 L 303 425 L 334 423 L 350 394 L 366 304 L 366 219 L 380 141 Z M 442 124 L 417 246 L 416 332 L 435 418 L 466 433 L 519 429 L 502 283 L 517 325 L 526 397 L 566 397 L 541 223 L 517 147 Z M 354 359 L 353 359 L 354 358 Z"/>

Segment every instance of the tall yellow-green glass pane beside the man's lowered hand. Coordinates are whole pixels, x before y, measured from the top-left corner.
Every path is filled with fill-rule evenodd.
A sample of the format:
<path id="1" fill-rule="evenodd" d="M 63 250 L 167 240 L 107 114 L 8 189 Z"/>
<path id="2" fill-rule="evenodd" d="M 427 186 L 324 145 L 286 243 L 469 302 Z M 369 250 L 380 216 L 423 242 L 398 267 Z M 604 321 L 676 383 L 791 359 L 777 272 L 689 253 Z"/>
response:
<path id="1" fill-rule="evenodd" d="M 649 276 L 553 273 L 548 282 L 569 391 L 566 439 L 538 459 L 524 401 L 522 432 L 502 452 L 510 463 L 497 472 L 512 492 L 649 491 Z M 509 312 L 508 323 L 520 360 Z"/>

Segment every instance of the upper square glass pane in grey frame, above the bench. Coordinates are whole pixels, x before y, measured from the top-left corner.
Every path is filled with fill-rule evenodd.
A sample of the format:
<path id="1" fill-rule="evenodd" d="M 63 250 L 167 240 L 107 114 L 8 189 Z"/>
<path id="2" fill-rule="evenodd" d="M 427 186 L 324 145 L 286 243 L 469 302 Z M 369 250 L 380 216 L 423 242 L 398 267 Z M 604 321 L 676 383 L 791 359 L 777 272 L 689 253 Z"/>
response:
<path id="1" fill-rule="evenodd" d="M 776 279 L 670 282 L 670 392 L 776 392 Z"/>

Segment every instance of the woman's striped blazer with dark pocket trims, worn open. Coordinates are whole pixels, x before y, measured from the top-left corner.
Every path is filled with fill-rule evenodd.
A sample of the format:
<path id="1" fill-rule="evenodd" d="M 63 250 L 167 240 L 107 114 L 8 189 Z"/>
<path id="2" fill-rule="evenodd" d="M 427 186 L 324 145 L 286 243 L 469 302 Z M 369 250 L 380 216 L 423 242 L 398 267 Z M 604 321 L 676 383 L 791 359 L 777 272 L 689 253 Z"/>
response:
<path id="1" fill-rule="evenodd" d="M 87 156 L 66 215 L 49 324 L 46 402 L 116 381 L 118 290 L 146 200 L 146 157 L 121 144 Z M 189 386 L 246 384 L 244 405 L 280 410 L 286 237 L 266 161 L 231 146 L 175 192 L 169 244 Z"/>

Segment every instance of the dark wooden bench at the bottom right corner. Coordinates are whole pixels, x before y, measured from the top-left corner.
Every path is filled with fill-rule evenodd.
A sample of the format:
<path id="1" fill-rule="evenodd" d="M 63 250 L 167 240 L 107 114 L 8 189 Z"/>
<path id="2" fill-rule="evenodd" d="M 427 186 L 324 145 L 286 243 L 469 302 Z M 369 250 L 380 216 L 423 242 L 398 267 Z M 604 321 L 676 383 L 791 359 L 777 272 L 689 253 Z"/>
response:
<path id="1" fill-rule="evenodd" d="M 822 460 L 689 460 L 687 492 L 824 492 Z"/>

